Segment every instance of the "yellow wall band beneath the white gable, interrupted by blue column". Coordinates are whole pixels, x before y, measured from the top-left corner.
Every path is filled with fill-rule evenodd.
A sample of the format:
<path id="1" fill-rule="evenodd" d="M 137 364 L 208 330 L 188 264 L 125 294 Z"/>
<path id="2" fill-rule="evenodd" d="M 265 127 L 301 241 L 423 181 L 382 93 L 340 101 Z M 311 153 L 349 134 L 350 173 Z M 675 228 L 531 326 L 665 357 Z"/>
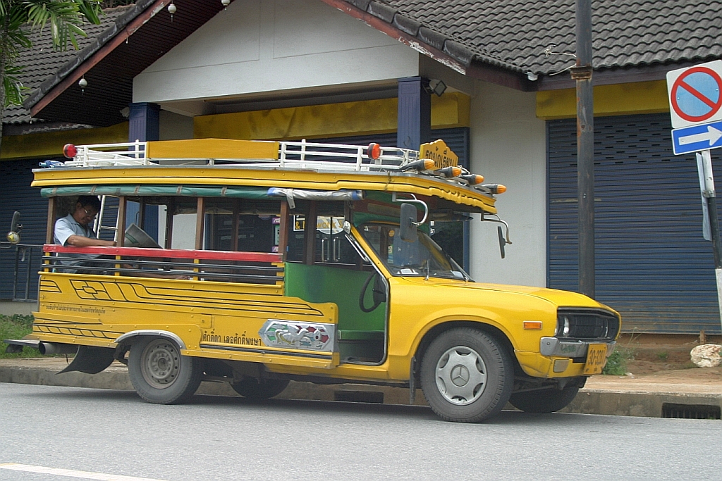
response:
<path id="1" fill-rule="evenodd" d="M 432 128 L 469 126 L 469 97 L 451 92 L 431 100 Z M 193 136 L 284 140 L 386 133 L 396 131 L 397 110 L 393 98 L 202 115 L 193 119 Z"/>

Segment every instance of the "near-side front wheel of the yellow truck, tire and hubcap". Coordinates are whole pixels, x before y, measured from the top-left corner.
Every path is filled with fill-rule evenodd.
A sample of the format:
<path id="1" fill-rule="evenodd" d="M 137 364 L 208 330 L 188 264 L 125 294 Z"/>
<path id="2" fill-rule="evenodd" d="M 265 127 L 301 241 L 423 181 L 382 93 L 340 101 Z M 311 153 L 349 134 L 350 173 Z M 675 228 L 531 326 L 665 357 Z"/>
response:
<path id="1" fill-rule="evenodd" d="M 422 358 L 424 397 L 443 420 L 478 423 L 497 415 L 513 384 L 507 350 L 494 337 L 470 327 L 443 332 Z"/>

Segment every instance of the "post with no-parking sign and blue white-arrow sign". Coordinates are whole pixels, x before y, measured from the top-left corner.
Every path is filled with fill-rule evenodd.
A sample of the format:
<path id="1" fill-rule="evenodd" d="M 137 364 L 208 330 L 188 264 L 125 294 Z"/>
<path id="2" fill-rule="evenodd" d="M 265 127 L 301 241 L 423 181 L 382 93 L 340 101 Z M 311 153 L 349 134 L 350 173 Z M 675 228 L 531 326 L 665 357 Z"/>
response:
<path id="1" fill-rule="evenodd" d="M 722 243 L 710 156 L 710 149 L 722 147 L 722 61 L 667 72 L 667 91 L 674 128 L 671 132 L 674 155 L 697 152 L 700 190 L 706 200 L 703 214 L 707 214 L 709 219 L 709 234 L 715 256 L 717 302 L 722 322 Z M 703 236 L 708 239 L 706 224 L 703 223 Z"/>

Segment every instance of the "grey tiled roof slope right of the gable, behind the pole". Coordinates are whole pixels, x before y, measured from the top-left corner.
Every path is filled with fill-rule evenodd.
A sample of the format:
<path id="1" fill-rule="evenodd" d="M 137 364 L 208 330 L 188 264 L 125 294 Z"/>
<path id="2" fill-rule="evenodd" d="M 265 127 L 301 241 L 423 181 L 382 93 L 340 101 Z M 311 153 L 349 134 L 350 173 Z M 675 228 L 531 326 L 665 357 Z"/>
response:
<path id="1" fill-rule="evenodd" d="M 552 74 L 573 63 L 573 0 L 346 0 L 468 65 Z M 716 0 L 595 0 L 593 66 L 612 69 L 722 56 Z M 455 52 L 445 45 L 456 44 Z M 465 62 L 466 61 L 466 62 Z"/>

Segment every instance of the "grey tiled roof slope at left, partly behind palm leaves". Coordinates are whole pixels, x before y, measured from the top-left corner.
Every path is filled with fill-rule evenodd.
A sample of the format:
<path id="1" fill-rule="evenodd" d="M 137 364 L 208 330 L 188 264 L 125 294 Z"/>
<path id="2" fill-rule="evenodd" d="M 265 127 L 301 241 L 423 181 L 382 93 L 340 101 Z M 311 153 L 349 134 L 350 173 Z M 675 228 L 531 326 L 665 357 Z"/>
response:
<path id="1" fill-rule="evenodd" d="M 87 33 L 87 37 L 78 39 L 78 49 L 92 45 L 96 37 L 101 33 L 112 28 L 116 19 L 131 9 L 131 6 L 118 6 L 113 9 L 105 9 L 103 17 L 100 17 L 100 25 L 84 24 L 82 29 Z M 40 87 L 40 84 L 48 78 L 52 77 L 58 69 L 77 57 L 79 50 L 75 50 L 69 45 L 67 50 L 54 50 L 51 37 L 46 27 L 43 32 L 35 30 L 30 35 L 32 40 L 32 48 L 23 50 L 16 61 L 16 65 L 23 67 L 23 73 L 19 76 L 22 84 L 29 90 L 26 94 Z M 3 123 L 30 123 L 35 122 L 31 118 L 30 111 L 22 105 L 13 105 L 7 107 L 3 112 Z"/>

